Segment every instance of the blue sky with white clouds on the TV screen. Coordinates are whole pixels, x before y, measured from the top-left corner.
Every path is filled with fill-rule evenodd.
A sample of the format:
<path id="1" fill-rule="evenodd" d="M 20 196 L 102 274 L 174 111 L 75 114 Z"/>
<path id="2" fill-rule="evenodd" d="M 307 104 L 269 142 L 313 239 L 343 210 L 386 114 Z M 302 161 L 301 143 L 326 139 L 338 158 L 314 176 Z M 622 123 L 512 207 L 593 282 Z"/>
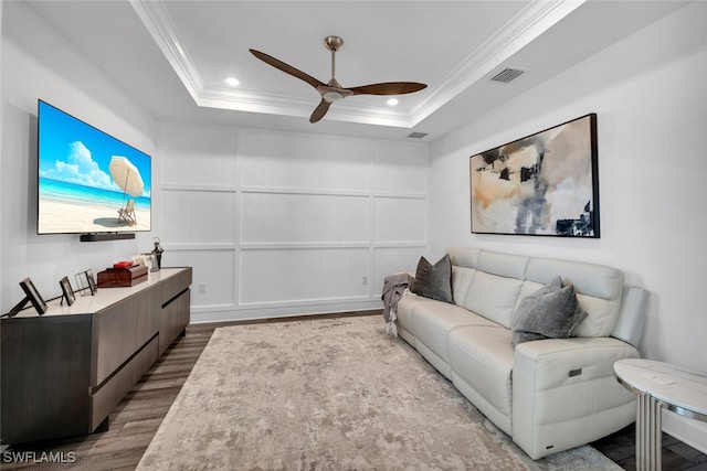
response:
<path id="1" fill-rule="evenodd" d="M 40 178 L 123 193 L 108 171 L 110 158 L 122 156 L 137 167 L 150 199 L 148 154 L 41 100 L 39 116 Z"/>

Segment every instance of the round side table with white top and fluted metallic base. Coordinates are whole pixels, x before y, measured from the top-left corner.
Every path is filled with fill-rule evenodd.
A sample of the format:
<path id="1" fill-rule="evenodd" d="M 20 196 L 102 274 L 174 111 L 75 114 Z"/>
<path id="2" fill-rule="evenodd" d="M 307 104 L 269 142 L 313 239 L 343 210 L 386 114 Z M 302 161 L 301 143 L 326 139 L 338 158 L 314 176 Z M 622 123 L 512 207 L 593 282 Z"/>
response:
<path id="1" fill-rule="evenodd" d="M 662 409 L 707 422 L 707 376 L 669 363 L 627 358 L 614 363 L 616 379 L 637 395 L 636 470 L 662 469 Z"/>

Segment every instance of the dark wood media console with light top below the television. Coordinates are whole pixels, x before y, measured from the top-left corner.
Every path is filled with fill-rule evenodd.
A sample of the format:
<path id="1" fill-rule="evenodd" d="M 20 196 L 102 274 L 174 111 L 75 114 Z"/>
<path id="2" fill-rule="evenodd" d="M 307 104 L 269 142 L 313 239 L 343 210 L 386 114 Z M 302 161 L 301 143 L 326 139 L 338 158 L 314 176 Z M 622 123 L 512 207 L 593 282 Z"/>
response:
<path id="1" fill-rule="evenodd" d="M 191 267 L 150 272 L 129 288 L 99 288 L 71 306 L 2 319 L 3 445 L 85 435 L 189 324 Z M 103 427 L 102 427 L 103 425 Z"/>

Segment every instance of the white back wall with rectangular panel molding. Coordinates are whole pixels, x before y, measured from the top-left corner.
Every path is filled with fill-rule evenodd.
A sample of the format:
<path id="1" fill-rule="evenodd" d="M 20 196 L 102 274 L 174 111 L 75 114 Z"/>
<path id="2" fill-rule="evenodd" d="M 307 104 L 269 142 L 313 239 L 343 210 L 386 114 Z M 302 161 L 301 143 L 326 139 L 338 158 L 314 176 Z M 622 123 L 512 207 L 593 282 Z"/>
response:
<path id="1" fill-rule="evenodd" d="M 186 122 L 157 140 L 192 322 L 377 309 L 426 250 L 425 144 Z"/>

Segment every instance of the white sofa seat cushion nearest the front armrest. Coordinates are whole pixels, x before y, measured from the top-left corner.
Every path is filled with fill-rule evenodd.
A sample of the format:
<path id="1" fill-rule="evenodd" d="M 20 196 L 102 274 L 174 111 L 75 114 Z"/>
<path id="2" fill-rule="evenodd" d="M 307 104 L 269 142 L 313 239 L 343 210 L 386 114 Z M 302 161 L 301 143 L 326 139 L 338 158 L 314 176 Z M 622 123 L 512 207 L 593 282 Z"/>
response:
<path id="1" fill-rule="evenodd" d="M 465 382 L 484 400 L 472 400 L 482 413 L 494 416 L 493 407 L 506 418 L 511 414 L 514 347 L 510 331 L 499 325 L 469 325 L 450 333 L 452 382 Z"/>

